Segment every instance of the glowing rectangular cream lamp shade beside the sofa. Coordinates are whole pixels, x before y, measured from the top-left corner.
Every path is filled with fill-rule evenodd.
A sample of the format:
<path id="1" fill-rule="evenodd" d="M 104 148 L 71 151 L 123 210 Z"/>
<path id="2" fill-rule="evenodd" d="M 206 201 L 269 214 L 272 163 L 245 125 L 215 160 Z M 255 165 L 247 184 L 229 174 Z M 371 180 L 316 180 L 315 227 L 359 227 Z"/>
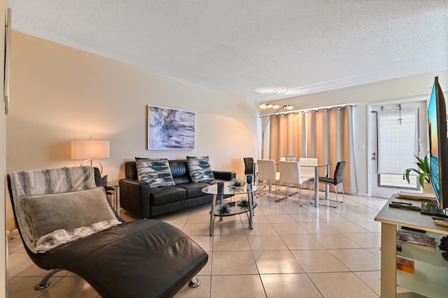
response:
<path id="1" fill-rule="evenodd" d="M 109 157 L 109 141 L 71 141 L 71 159 L 100 159 Z"/>

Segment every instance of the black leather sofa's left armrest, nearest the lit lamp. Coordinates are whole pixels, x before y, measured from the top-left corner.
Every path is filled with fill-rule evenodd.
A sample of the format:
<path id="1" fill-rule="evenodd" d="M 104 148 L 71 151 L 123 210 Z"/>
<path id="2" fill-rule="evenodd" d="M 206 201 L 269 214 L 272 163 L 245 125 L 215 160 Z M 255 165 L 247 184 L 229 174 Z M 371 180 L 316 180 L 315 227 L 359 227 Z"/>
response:
<path id="1" fill-rule="evenodd" d="M 120 206 L 127 211 L 136 213 L 141 218 L 149 218 L 150 214 L 150 188 L 146 181 L 123 178 L 120 184 Z"/>

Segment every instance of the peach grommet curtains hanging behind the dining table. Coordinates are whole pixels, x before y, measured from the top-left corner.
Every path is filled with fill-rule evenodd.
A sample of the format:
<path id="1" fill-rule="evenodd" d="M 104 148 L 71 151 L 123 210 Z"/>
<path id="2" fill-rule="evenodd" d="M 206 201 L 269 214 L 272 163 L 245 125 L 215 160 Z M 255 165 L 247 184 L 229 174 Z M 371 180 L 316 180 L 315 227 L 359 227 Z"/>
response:
<path id="1" fill-rule="evenodd" d="M 279 160 L 285 155 L 315 157 L 319 164 L 331 164 L 331 177 L 337 162 L 345 160 L 344 190 L 358 192 L 352 110 L 352 106 L 344 106 L 271 116 L 269 158 Z"/>

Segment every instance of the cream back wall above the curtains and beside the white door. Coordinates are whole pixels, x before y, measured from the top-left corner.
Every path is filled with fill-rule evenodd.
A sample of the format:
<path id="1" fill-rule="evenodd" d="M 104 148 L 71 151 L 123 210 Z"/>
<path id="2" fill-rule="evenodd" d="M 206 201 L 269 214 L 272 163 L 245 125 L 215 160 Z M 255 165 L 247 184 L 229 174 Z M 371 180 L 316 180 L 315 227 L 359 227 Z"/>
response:
<path id="1" fill-rule="evenodd" d="M 293 104 L 298 110 L 319 108 L 339 104 L 355 104 L 353 108 L 353 139 L 356 160 L 356 180 L 359 194 L 370 194 L 367 185 L 367 169 L 370 156 L 367 148 L 370 140 L 367 139 L 367 112 L 368 104 L 388 101 L 414 101 L 416 97 L 429 99 L 434 77 L 439 76 L 439 82 L 444 92 L 448 91 L 448 71 L 437 71 L 419 76 L 410 76 L 395 80 L 387 80 L 367 85 L 342 88 L 328 92 L 321 92 L 301 97 L 292 97 L 276 101 L 283 106 Z M 358 149 L 358 144 L 364 144 L 364 150 Z"/>

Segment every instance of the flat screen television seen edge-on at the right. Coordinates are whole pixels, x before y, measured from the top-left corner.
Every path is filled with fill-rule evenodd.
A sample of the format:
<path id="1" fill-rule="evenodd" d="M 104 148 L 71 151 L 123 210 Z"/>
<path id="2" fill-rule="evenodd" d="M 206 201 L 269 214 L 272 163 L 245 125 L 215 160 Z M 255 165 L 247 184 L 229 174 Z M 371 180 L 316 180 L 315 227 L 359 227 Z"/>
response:
<path id="1" fill-rule="evenodd" d="M 448 208 L 447 108 L 438 77 L 428 104 L 431 184 L 440 210 Z"/>

